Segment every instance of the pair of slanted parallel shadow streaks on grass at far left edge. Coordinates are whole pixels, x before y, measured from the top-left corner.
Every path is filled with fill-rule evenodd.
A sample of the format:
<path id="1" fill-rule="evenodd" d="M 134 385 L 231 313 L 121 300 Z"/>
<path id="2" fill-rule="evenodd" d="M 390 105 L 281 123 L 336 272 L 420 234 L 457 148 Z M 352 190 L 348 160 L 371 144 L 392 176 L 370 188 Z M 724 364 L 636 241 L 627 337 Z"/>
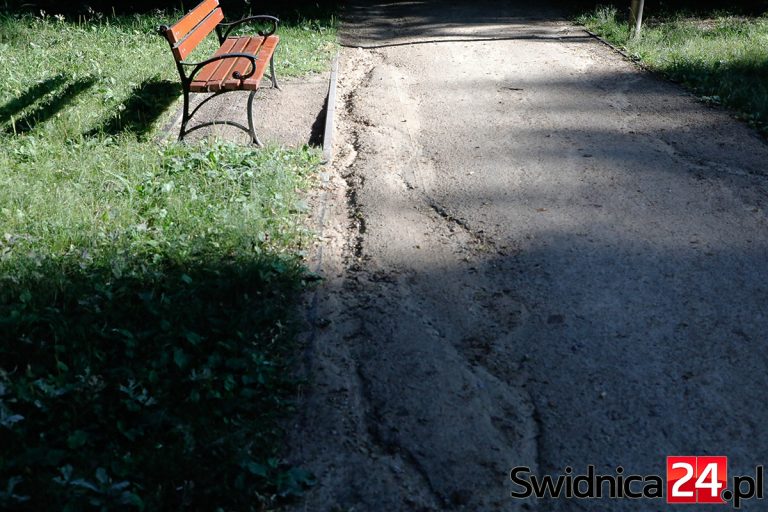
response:
<path id="1" fill-rule="evenodd" d="M 37 125 L 54 117 L 72 103 L 77 96 L 90 89 L 96 83 L 96 79 L 92 77 L 80 78 L 68 83 L 64 89 L 59 91 L 59 88 L 67 82 L 68 79 L 65 76 L 58 75 L 35 85 L 3 106 L 0 109 L 0 123 L 5 124 L 3 131 L 7 134 L 19 135 L 34 130 Z M 22 113 L 49 94 L 53 94 L 51 101 L 42 102 L 33 110 Z M 22 113 L 21 117 L 14 118 L 19 113 Z"/>

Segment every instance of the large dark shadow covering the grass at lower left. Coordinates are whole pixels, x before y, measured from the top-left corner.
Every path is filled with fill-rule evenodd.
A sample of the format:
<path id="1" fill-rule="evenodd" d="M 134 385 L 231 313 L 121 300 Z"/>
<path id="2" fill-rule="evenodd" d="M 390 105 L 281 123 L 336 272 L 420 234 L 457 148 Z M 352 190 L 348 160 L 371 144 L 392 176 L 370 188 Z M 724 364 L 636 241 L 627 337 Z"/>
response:
<path id="1" fill-rule="evenodd" d="M 271 462 L 299 263 L 87 262 L 2 279 L 0 508 L 248 510 L 300 486 Z"/>

